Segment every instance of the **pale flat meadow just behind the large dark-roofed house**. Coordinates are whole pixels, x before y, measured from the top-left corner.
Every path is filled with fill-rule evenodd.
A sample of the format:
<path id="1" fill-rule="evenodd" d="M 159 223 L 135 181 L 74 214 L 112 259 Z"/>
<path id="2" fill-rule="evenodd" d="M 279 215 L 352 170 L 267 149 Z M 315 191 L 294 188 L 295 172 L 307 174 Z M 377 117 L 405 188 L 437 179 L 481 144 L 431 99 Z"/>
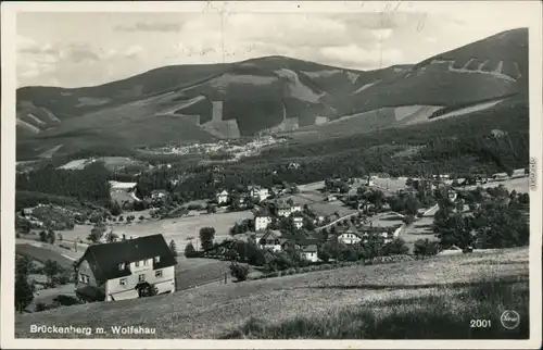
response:
<path id="1" fill-rule="evenodd" d="M 181 252 L 188 243 L 188 238 L 198 238 L 200 228 L 211 226 L 215 227 L 215 241 L 220 242 L 229 237 L 228 230 L 236 222 L 241 222 L 245 218 L 252 218 L 251 211 L 242 211 L 224 214 L 203 214 L 198 216 L 165 218 L 160 221 L 150 221 L 143 223 L 122 224 L 113 227 L 116 235 L 125 234 L 127 237 L 149 236 L 162 234 L 166 242 L 174 240 L 177 249 Z M 61 232 L 64 239 L 86 239 L 90 234 L 91 226 L 76 225 L 73 230 Z"/>

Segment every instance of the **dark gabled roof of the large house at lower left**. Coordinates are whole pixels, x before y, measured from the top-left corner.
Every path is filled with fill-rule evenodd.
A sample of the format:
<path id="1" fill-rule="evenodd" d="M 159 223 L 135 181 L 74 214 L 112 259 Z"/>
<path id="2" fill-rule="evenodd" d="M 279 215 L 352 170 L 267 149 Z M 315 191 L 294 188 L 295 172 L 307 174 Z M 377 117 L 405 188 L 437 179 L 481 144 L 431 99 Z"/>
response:
<path id="1" fill-rule="evenodd" d="M 89 246 L 77 265 L 84 260 L 89 262 L 94 277 L 99 282 L 130 275 L 128 268 L 119 270 L 121 263 L 132 263 L 160 257 L 157 263 L 153 260 L 153 270 L 177 264 L 172 250 L 162 235 L 152 235 L 118 242 Z"/>

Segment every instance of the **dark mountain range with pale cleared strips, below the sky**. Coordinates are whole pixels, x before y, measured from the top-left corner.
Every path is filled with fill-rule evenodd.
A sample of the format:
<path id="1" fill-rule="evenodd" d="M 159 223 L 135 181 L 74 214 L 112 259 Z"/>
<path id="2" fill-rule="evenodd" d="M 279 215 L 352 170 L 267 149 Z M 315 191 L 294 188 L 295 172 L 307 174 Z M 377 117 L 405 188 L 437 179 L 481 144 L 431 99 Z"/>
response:
<path id="1" fill-rule="evenodd" d="M 165 66 L 96 87 L 17 89 L 17 155 L 293 130 L 364 133 L 528 105 L 527 90 L 527 28 L 368 72 L 286 57 Z"/>

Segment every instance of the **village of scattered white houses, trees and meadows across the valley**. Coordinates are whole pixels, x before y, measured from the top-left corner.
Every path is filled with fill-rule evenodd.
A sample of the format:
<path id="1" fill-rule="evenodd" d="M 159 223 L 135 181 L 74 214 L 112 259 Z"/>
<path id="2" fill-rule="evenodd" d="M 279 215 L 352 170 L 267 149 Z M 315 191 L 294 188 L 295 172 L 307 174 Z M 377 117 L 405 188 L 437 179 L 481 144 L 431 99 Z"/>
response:
<path id="1" fill-rule="evenodd" d="M 289 166 L 295 168 L 296 164 Z M 480 203 L 466 201 L 463 193 L 485 189 L 483 197 L 492 197 L 491 189 L 503 189 L 504 184 L 512 189 L 510 198 L 528 191 L 523 189 L 525 170 L 489 178 L 369 174 L 298 186 L 285 182 L 274 187 L 238 186 L 223 188 L 207 201 L 168 211 L 164 208 L 171 193 L 156 189 L 147 199 L 151 208 L 139 217 L 137 212 L 118 212 L 104 222 L 77 222 L 74 229 L 56 234 L 43 229 L 51 226 L 33 215 L 48 205 L 25 209 L 22 216 L 37 228 L 17 234 L 17 254 L 35 261 L 34 273 L 28 276 L 36 284 L 37 295 L 26 312 L 51 308 L 45 305 L 47 300 L 55 300 L 52 305 L 58 307 L 62 303 L 54 299 L 58 295 L 63 296 L 64 303 L 70 300 L 68 304 L 75 304 L 174 292 L 223 279 L 227 283 L 228 270 L 242 282 L 280 275 L 277 271 L 288 268 L 417 255 L 426 250 L 462 254 L 480 247 L 476 242 L 476 247 L 463 249 L 455 245 L 438 248 L 432 225 L 439 198 L 445 199 L 454 212 L 469 213 Z M 112 198 L 119 204 L 140 201 L 135 196 L 136 185 L 111 182 Z M 257 251 L 250 252 L 248 247 Z M 206 280 L 187 283 L 180 280 L 186 277 L 178 273 L 177 265 L 190 265 L 190 261 L 217 261 L 222 265 L 213 273 L 210 270 Z M 230 265 L 226 267 L 224 262 Z M 70 272 L 74 268 L 75 274 Z"/>

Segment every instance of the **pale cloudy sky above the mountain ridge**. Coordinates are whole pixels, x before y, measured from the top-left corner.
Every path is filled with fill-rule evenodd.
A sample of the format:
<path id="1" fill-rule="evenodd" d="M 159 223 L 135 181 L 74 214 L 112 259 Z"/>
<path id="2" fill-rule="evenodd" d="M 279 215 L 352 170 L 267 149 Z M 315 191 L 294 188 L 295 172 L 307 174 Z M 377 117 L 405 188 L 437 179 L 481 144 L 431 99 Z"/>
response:
<path id="1" fill-rule="evenodd" d="M 480 13 L 20 12 L 17 87 L 83 87 L 165 65 L 266 55 L 355 70 L 413 64 L 526 26 Z"/>

